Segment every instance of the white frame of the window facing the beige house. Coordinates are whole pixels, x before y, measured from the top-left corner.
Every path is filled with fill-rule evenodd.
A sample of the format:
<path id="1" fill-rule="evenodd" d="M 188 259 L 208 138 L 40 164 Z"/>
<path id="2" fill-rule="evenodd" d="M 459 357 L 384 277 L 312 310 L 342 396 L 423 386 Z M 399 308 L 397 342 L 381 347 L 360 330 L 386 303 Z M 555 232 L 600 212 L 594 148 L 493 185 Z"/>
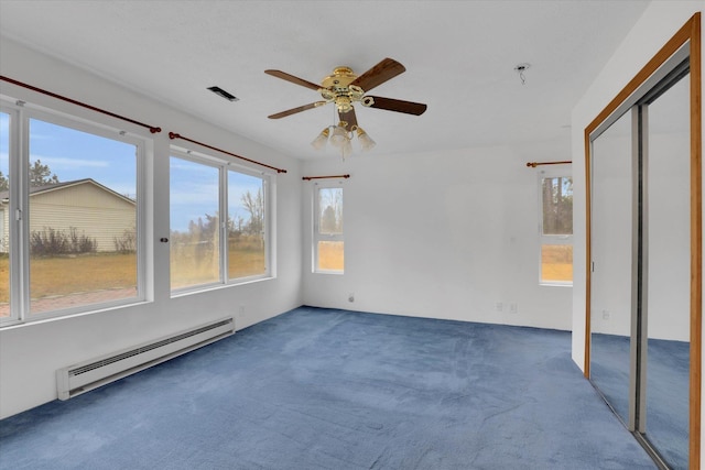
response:
<path id="1" fill-rule="evenodd" d="M 127 307 L 141 304 L 151 297 L 148 293 L 148 231 L 147 212 L 151 198 L 148 197 L 145 175 L 148 174 L 148 154 L 153 146 L 151 141 L 138 133 L 105 123 L 97 116 L 90 119 L 62 112 L 44 106 L 0 97 L 0 110 L 10 114 L 9 129 L 9 168 L 10 168 L 10 204 L 9 204 L 9 243 L 10 250 L 10 315 L 0 318 L 0 328 L 33 324 L 47 319 L 66 318 L 75 315 L 86 315 L 107 309 Z M 46 122 L 53 125 L 70 129 L 94 136 L 122 142 L 135 147 L 135 270 L 137 295 L 134 297 L 113 300 L 82 304 L 68 308 L 58 308 L 41 313 L 32 313 L 30 308 L 30 132 L 31 120 Z M 18 220 L 18 216 L 20 220 Z M 24 216 L 28 215 L 28 216 Z"/>

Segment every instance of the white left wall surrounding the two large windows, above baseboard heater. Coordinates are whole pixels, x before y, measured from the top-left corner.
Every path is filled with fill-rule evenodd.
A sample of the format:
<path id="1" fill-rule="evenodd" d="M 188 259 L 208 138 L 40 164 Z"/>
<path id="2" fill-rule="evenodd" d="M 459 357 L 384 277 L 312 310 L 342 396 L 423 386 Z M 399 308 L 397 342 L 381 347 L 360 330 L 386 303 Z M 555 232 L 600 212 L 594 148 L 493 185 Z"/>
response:
<path id="1" fill-rule="evenodd" d="M 59 63 L 17 43 L 0 42 L 3 76 L 34 85 L 162 128 L 151 135 L 111 118 L 0 83 L 0 92 L 28 102 L 99 119 L 153 139 L 150 179 L 153 186 L 150 240 L 169 237 L 169 132 L 219 146 L 270 165 L 286 168 L 276 183 L 276 278 L 170 298 L 169 245 L 154 243 L 152 300 L 109 311 L 4 328 L 0 331 L 0 418 L 56 398 L 55 371 L 88 358 L 159 338 L 223 316 L 236 318 L 238 329 L 286 311 L 301 298 L 301 173 L 300 162 L 263 145 L 216 129 L 193 117 Z M 183 143 L 183 142 L 181 142 Z M 236 311 L 236 309 L 238 311 Z"/>

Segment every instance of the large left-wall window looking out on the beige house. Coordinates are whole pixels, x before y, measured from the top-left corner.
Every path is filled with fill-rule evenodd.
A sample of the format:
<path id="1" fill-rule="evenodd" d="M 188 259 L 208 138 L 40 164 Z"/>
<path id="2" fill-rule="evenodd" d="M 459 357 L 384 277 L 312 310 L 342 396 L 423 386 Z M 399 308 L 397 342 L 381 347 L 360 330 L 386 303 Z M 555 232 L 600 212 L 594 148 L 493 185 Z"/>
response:
<path id="1" fill-rule="evenodd" d="M 143 299 L 138 175 L 144 142 L 30 107 L 4 109 L 0 321 Z M 23 141 L 29 145 L 19 145 Z"/>

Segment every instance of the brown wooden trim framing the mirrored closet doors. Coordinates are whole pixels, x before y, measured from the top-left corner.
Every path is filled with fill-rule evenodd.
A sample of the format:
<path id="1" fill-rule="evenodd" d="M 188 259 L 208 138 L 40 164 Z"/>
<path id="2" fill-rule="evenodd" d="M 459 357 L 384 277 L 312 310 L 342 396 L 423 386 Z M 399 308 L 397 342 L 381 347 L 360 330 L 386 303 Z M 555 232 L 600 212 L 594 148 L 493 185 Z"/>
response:
<path id="1" fill-rule="evenodd" d="M 701 13 L 694 14 L 669 42 L 647 63 L 625 88 L 600 111 L 585 129 L 585 177 L 586 177 L 586 292 L 585 292 L 585 364 L 590 378 L 590 310 L 592 310 L 592 142 L 606 128 L 642 98 L 644 92 L 659 83 L 668 72 L 663 67 L 675 66 L 683 58 L 690 61 L 690 116 L 691 116 L 691 299 L 690 299 L 690 442 L 688 467 L 701 468 L 701 371 L 702 371 L 702 109 L 701 109 Z M 662 72 L 666 69 L 665 72 Z"/>

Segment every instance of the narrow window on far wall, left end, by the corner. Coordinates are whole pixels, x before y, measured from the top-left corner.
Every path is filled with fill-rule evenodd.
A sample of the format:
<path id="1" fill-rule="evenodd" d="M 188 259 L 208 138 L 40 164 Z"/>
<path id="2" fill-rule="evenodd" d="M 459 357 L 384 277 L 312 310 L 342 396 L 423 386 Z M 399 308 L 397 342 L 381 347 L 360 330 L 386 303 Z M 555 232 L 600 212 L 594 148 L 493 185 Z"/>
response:
<path id="1" fill-rule="evenodd" d="M 315 186 L 314 271 L 343 273 L 343 188 Z"/>

